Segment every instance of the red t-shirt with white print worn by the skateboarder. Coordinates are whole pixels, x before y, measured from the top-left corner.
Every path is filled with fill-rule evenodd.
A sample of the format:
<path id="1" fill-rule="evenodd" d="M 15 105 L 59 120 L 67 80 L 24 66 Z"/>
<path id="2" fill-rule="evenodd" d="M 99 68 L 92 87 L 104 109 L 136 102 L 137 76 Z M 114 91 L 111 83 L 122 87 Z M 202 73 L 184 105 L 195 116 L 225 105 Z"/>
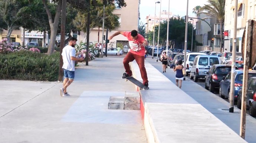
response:
<path id="1" fill-rule="evenodd" d="M 144 37 L 138 34 L 137 39 L 134 41 L 132 39 L 131 32 L 124 32 L 123 35 L 126 36 L 129 41 L 129 46 L 131 48 L 129 52 L 134 53 L 136 55 L 144 56 L 145 47 L 142 46 L 143 42 L 145 41 Z"/>

